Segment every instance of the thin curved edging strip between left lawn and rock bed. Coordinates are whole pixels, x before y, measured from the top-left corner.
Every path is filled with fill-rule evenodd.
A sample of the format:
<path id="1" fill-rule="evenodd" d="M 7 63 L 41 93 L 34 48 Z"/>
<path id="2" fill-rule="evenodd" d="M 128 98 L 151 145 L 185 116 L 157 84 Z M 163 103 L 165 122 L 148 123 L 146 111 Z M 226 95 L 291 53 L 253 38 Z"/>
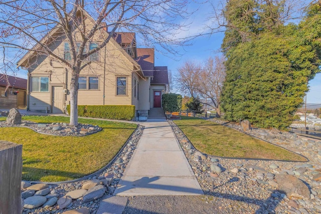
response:
<path id="1" fill-rule="evenodd" d="M 86 175 L 84 177 L 80 177 L 77 179 L 73 179 L 73 180 L 66 180 L 66 181 L 57 181 L 57 182 L 41 182 L 41 181 L 28 181 L 28 180 L 22 180 L 22 181 L 27 181 L 30 183 L 47 183 L 47 184 L 62 184 L 62 183 L 71 183 L 71 182 L 78 182 L 78 181 L 82 181 L 85 179 L 88 179 L 89 177 L 93 177 L 101 172 L 103 172 L 106 168 L 108 168 L 116 159 L 117 157 L 120 155 L 120 153 L 123 151 L 123 149 L 126 147 L 127 143 L 132 139 L 132 136 L 137 132 L 137 130 L 140 128 L 139 126 L 141 126 L 142 129 L 144 129 L 143 125 L 139 125 L 137 124 L 136 129 L 131 133 L 131 135 L 129 136 L 129 138 L 126 140 L 126 142 L 124 143 L 124 145 L 121 147 L 121 149 L 119 149 L 119 151 L 117 152 L 117 154 L 111 159 L 111 161 L 105 165 L 103 168 L 99 169 L 96 172 L 93 172 L 89 175 Z"/>

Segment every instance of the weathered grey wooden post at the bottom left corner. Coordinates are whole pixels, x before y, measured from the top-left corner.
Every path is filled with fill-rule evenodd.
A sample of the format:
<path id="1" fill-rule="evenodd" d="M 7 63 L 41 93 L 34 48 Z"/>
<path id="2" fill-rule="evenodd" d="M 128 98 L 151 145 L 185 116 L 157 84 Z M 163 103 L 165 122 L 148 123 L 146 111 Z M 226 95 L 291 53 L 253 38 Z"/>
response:
<path id="1" fill-rule="evenodd" d="M 22 145 L 0 140 L 0 213 L 22 213 Z"/>

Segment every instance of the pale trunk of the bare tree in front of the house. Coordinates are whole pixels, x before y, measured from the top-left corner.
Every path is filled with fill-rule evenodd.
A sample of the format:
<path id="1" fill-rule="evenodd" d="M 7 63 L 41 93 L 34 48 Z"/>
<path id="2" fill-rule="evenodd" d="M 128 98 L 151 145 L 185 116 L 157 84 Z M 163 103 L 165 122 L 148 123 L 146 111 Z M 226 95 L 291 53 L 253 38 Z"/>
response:
<path id="1" fill-rule="evenodd" d="M 70 125 L 78 125 L 78 75 L 72 72 L 70 82 Z"/>

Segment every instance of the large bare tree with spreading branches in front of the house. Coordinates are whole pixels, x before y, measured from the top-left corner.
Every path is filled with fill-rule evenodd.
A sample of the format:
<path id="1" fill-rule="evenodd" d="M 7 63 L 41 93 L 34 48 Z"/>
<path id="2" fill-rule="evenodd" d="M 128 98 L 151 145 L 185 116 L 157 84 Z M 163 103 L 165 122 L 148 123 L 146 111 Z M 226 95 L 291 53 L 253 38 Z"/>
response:
<path id="1" fill-rule="evenodd" d="M 7 0 L 0 3 L 0 47 L 3 73 L 10 64 L 18 62 L 29 52 L 31 60 L 25 68 L 48 57 L 52 64 L 60 64 L 70 72 L 70 125 L 78 123 L 78 78 L 85 68 L 90 68 L 91 57 L 103 50 L 118 31 L 135 32 L 143 45 L 155 45 L 169 53 L 177 53 L 176 46 L 184 41 L 175 40 L 175 32 L 182 27 L 178 17 L 186 18 L 188 0 Z M 87 27 L 86 19 L 93 26 Z M 102 31 L 109 30 L 108 36 Z M 104 32 L 105 33 L 105 32 Z M 94 38 L 103 42 L 86 50 Z M 53 46 L 62 39 L 69 44 L 70 60 L 55 54 Z M 55 72 L 54 68 L 50 72 Z M 90 72 L 94 73 L 94 70 Z"/>

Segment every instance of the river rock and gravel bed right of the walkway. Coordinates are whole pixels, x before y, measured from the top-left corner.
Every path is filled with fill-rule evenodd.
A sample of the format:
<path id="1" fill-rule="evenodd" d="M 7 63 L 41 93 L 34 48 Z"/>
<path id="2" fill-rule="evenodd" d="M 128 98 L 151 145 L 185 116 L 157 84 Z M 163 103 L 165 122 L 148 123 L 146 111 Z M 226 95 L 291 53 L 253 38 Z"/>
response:
<path id="1" fill-rule="evenodd" d="M 238 124 L 213 121 L 243 130 Z M 230 201 L 219 203 L 220 213 L 321 212 L 321 141 L 276 129 L 250 129 L 247 134 L 302 154 L 309 161 L 222 158 L 196 150 L 181 129 L 169 122 L 205 192 L 204 200 Z M 231 206 L 235 201 L 238 204 Z"/>

